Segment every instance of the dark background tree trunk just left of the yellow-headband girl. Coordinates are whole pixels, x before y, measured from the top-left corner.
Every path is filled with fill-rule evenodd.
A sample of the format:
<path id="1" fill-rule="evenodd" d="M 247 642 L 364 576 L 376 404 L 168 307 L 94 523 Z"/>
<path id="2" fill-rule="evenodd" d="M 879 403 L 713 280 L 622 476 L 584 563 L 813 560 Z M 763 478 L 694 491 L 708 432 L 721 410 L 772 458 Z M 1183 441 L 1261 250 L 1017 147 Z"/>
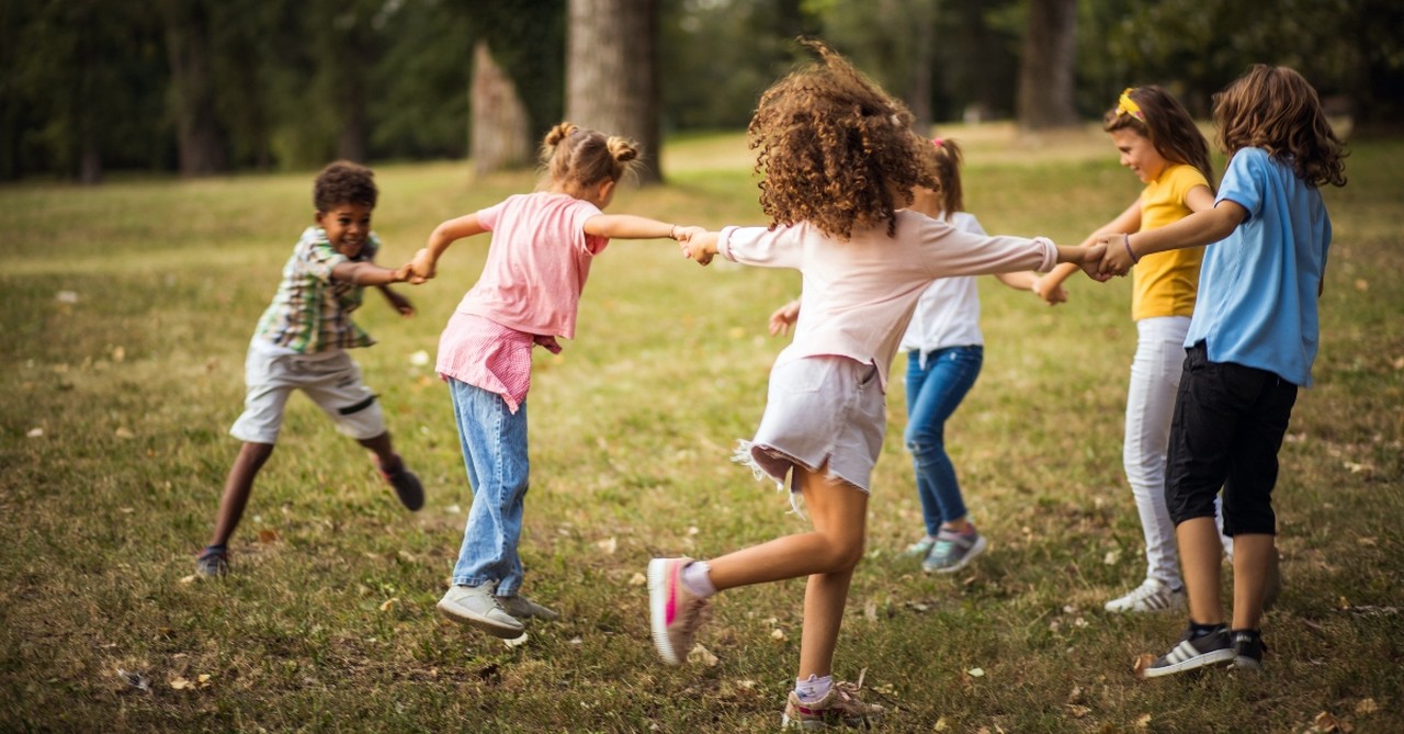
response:
<path id="1" fill-rule="evenodd" d="M 1078 125 L 1073 104 L 1077 62 L 1077 0 L 1031 0 L 1019 62 L 1019 128 L 1043 131 Z"/>

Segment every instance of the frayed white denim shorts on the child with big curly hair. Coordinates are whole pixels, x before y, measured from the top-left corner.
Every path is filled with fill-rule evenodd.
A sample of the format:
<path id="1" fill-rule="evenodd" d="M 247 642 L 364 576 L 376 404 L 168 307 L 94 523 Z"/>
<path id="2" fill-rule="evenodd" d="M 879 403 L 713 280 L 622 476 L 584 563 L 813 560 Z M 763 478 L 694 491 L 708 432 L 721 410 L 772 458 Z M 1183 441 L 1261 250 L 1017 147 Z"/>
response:
<path id="1" fill-rule="evenodd" d="M 887 400 L 878 368 L 847 356 L 806 356 L 776 365 L 755 438 L 736 460 L 785 487 L 796 466 L 869 491 L 882 453 Z M 792 477 L 789 490 L 799 491 Z"/>

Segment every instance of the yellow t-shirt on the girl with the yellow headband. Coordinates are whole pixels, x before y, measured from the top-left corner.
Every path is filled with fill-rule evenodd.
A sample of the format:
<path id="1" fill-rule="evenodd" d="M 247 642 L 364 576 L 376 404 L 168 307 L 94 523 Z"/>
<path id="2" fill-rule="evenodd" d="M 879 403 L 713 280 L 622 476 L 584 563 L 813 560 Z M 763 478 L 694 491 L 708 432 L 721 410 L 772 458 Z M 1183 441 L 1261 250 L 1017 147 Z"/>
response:
<path id="1" fill-rule="evenodd" d="M 1199 168 L 1171 164 L 1141 191 L 1141 232 L 1164 227 L 1189 215 L 1185 196 L 1195 187 L 1207 187 Z M 1199 289 L 1203 247 L 1167 250 L 1140 258 L 1132 268 L 1132 319 L 1191 316 Z"/>

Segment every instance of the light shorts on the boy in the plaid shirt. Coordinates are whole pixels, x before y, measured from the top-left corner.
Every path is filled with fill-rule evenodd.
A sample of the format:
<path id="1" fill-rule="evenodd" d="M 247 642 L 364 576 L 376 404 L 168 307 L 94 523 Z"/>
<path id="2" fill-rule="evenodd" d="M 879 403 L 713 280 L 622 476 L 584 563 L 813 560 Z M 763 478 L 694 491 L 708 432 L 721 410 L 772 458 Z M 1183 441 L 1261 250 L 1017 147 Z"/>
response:
<path id="1" fill-rule="evenodd" d="M 250 344 L 244 383 L 244 413 L 229 429 L 240 441 L 277 443 L 293 390 L 306 393 L 344 435 L 362 441 L 385 432 L 380 403 L 361 382 L 361 368 L 341 349 L 303 355 Z"/>

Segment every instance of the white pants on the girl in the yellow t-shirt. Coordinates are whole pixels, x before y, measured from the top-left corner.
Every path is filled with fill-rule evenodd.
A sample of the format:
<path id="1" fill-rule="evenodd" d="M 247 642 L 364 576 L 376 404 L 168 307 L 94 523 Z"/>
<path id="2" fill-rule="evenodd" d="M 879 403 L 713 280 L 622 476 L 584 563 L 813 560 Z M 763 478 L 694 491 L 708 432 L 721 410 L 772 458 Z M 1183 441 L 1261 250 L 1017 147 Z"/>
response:
<path id="1" fill-rule="evenodd" d="M 1141 532 L 1146 535 L 1146 578 L 1179 588 L 1179 553 L 1175 525 L 1165 507 L 1165 449 L 1175 393 L 1185 363 L 1188 316 L 1163 316 L 1136 321 L 1136 359 L 1126 392 L 1126 438 L 1122 465 L 1136 497 Z M 1214 522 L 1224 552 L 1233 557 L 1233 540 L 1223 535 L 1223 509 L 1214 500 Z"/>

